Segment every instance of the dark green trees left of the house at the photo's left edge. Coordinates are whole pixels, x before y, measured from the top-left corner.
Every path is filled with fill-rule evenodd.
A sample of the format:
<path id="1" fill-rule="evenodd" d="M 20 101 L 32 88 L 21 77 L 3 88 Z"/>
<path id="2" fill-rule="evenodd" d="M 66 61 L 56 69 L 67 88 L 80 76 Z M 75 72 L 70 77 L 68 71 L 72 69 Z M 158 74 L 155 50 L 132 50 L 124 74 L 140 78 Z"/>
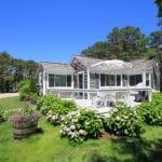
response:
<path id="1" fill-rule="evenodd" d="M 0 93 L 12 92 L 21 81 L 35 77 L 38 64 L 12 57 L 8 52 L 0 52 Z"/>

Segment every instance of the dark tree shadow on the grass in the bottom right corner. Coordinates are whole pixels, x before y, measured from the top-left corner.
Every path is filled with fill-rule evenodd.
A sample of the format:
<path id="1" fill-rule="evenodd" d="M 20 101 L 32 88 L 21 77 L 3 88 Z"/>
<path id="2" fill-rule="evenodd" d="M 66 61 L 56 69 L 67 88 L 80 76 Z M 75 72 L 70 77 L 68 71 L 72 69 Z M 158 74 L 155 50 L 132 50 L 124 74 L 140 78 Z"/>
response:
<path id="1" fill-rule="evenodd" d="M 89 162 L 161 162 L 162 161 L 162 139 L 148 141 L 144 138 L 112 138 L 113 149 L 117 154 L 122 154 L 120 159 L 117 154 L 112 157 L 100 156 L 93 152 Z"/>

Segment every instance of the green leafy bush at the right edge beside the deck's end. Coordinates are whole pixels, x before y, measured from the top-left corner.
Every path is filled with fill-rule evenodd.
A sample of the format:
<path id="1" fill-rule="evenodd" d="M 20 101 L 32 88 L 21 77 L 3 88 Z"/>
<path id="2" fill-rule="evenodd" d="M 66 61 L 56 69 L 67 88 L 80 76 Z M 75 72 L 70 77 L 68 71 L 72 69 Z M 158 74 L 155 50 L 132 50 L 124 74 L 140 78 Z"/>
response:
<path id="1" fill-rule="evenodd" d="M 162 94 L 153 94 L 152 102 L 144 102 L 138 114 L 149 125 L 162 125 Z"/>

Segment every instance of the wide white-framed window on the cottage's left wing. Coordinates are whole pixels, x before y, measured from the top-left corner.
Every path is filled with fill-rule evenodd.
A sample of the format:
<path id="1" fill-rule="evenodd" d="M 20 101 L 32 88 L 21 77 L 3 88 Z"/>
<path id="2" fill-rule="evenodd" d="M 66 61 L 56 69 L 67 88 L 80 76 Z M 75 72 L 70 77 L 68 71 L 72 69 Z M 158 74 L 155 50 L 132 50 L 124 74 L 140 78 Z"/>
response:
<path id="1" fill-rule="evenodd" d="M 71 86 L 70 75 L 49 75 L 49 87 Z"/>

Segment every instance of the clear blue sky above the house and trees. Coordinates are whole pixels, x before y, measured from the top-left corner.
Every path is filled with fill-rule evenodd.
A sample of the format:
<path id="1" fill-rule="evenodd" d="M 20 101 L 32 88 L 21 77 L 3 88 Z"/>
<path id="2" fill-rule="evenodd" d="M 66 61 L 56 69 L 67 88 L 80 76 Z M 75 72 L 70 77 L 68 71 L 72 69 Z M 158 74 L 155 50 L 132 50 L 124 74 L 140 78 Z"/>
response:
<path id="1" fill-rule="evenodd" d="M 0 52 L 68 63 L 113 27 L 158 30 L 153 0 L 0 0 Z"/>

